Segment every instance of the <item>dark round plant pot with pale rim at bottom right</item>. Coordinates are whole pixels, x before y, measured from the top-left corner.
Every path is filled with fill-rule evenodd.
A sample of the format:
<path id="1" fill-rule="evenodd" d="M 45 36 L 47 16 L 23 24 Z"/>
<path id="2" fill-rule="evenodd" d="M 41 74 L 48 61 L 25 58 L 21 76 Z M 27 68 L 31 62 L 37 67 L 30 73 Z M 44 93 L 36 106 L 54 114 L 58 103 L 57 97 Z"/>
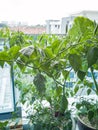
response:
<path id="1" fill-rule="evenodd" d="M 85 124 L 79 116 L 77 117 L 77 125 L 79 127 L 79 130 L 96 130 L 95 128 Z"/>

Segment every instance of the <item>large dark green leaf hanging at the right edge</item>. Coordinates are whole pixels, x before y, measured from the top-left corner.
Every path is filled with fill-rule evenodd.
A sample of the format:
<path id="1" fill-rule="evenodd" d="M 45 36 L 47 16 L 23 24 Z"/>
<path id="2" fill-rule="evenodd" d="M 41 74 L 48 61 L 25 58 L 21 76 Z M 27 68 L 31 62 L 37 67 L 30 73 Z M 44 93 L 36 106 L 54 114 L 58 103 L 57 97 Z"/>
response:
<path id="1" fill-rule="evenodd" d="M 91 47 L 87 53 L 88 67 L 91 67 L 98 60 L 98 47 Z"/>

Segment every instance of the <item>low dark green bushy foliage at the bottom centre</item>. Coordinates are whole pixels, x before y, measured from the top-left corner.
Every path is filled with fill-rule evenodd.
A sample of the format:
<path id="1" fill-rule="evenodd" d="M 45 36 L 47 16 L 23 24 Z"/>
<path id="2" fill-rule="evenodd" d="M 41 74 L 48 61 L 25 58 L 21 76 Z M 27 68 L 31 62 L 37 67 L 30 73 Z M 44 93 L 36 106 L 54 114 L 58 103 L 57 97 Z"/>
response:
<path id="1" fill-rule="evenodd" d="M 69 130 L 72 127 L 71 118 L 69 118 L 70 111 L 65 113 L 60 113 L 55 111 L 52 107 L 45 107 L 41 102 L 34 104 L 35 113 L 32 113 L 31 121 L 34 126 L 41 126 L 42 129 L 54 130 L 54 129 L 64 129 L 65 126 Z M 69 125 L 68 125 L 69 124 Z M 41 129 L 40 128 L 40 129 Z"/>

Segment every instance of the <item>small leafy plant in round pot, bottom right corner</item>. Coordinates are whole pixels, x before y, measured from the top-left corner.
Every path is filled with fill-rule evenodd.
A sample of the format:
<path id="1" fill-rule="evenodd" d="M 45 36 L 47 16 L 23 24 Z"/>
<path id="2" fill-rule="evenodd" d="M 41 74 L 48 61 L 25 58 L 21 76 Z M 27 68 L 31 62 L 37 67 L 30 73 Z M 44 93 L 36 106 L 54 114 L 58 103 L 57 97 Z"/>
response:
<path id="1" fill-rule="evenodd" d="M 76 104 L 78 109 L 77 123 L 80 130 L 97 130 L 98 128 L 98 101 L 81 98 Z"/>

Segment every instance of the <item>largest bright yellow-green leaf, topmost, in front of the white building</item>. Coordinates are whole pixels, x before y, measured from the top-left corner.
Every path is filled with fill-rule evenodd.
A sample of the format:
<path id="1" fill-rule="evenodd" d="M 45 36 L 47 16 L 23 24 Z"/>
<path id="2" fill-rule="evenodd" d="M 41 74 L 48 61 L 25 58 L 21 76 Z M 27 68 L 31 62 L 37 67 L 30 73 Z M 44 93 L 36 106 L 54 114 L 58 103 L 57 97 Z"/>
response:
<path id="1" fill-rule="evenodd" d="M 94 23 L 85 17 L 76 17 L 72 28 L 69 30 L 68 36 L 70 36 L 71 42 L 86 41 L 91 39 L 94 32 Z"/>

